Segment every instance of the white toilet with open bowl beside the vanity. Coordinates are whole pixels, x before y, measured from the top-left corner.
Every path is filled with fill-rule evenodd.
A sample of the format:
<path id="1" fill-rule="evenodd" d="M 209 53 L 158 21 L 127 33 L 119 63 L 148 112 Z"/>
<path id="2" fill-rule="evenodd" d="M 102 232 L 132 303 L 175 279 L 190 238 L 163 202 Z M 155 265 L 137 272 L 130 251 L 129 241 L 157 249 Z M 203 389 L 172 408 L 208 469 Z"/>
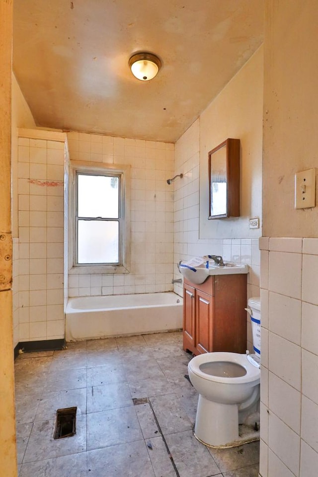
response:
<path id="1" fill-rule="evenodd" d="M 188 364 L 189 379 L 199 393 L 194 435 L 210 447 L 234 447 L 255 440 L 239 436 L 239 424 L 259 412 L 260 299 L 248 300 L 254 353 L 212 352 Z"/>

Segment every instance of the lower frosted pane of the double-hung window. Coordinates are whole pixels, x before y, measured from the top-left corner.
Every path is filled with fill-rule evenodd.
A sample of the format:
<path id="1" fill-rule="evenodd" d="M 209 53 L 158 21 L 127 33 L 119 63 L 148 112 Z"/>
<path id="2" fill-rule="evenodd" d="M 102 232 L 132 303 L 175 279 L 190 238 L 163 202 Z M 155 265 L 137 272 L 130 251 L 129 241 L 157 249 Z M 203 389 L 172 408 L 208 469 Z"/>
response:
<path id="1" fill-rule="evenodd" d="M 78 263 L 118 263 L 119 223 L 79 220 Z"/>

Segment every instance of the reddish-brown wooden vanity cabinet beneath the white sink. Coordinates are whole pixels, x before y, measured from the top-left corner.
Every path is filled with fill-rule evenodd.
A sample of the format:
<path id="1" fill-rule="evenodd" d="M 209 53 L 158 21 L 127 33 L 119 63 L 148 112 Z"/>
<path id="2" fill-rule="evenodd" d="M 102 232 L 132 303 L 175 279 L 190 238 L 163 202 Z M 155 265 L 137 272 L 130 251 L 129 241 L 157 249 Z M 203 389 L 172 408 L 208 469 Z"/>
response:
<path id="1" fill-rule="evenodd" d="M 210 275 L 200 285 L 184 279 L 183 349 L 245 353 L 247 275 Z"/>

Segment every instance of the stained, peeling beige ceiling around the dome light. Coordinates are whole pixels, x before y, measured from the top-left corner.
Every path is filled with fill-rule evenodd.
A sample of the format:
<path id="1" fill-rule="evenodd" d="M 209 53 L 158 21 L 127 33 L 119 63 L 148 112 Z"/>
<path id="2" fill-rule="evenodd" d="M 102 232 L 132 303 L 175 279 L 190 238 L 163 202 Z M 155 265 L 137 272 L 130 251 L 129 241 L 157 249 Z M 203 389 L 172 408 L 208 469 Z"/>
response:
<path id="1" fill-rule="evenodd" d="M 175 142 L 262 43 L 263 0 L 14 0 L 13 71 L 37 126 Z M 139 51 L 155 79 L 129 67 Z"/>

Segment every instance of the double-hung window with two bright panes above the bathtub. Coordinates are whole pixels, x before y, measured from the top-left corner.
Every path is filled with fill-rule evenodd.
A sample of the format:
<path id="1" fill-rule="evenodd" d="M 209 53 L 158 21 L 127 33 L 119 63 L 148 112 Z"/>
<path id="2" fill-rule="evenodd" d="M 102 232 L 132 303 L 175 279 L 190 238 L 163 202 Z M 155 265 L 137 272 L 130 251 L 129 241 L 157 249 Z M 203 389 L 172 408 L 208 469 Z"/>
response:
<path id="1" fill-rule="evenodd" d="M 73 168 L 71 268 L 76 269 L 74 273 L 128 271 L 124 188 L 123 170 L 82 165 Z"/>

